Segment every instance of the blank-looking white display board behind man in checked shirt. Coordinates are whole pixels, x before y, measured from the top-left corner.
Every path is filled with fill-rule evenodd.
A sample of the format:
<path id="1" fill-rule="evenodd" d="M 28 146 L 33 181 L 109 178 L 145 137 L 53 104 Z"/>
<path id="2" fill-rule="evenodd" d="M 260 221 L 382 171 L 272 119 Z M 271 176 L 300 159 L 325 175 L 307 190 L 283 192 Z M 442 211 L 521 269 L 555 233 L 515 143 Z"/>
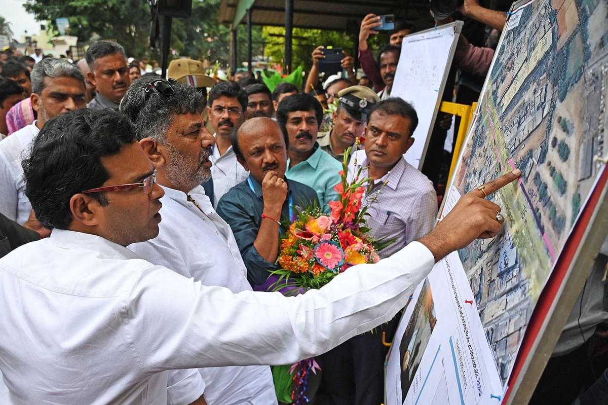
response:
<path id="1" fill-rule="evenodd" d="M 418 126 L 413 133 L 415 142 L 404 156 L 409 164 L 419 169 L 435 125 L 461 28 L 461 21 L 452 22 L 407 35 L 401 44 L 401 57 L 390 95 L 412 103 L 418 114 Z"/>

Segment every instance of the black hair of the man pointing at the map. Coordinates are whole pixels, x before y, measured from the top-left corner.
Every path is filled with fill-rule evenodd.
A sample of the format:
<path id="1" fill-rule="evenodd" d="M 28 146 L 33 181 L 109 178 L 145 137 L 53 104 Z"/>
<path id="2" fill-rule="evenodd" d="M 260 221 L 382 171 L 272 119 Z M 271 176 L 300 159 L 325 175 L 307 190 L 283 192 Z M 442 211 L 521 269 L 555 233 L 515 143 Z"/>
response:
<path id="1" fill-rule="evenodd" d="M 133 123 L 111 108 L 81 108 L 49 120 L 21 162 L 36 218 L 49 229 L 67 229 L 72 223 L 72 196 L 101 187 L 109 178 L 100 157 L 116 154 L 132 142 Z M 108 204 L 105 193 L 91 196 L 102 206 Z"/>

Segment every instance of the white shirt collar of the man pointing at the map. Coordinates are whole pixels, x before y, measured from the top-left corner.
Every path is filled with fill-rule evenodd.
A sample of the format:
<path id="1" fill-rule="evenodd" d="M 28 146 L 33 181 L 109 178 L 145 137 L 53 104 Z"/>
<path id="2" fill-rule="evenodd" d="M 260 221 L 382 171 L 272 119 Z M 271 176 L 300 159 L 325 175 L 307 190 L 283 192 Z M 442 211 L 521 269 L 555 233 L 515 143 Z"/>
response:
<path id="1" fill-rule="evenodd" d="M 63 249 L 86 249 L 111 258 L 139 259 L 140 257 L 125 246 L 114 243 L 99 235 L 85 234 L 67 229 L 53 229 L 50 243 Z"/>

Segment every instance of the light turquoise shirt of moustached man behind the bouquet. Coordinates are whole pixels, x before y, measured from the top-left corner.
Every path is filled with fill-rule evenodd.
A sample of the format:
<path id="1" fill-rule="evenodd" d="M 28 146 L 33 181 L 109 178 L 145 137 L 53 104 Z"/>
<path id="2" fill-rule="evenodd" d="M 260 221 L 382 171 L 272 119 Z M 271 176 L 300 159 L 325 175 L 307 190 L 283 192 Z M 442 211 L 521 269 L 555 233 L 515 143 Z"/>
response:
<path id="1" fill-rule="evenodd" d="M 308 159 L 291 169 L 288 159 L 287 167 L 285 177 L 312 187 L 317 192 L 323 212 L 331 212 L 328 203 L 338 199 L 338 193 L 334 190 L 334 187 L 340 182 L 340 175 L 338 174 L 342 170 L 340 162 L 323 151 L 317 142 L 314 145 L 314 153 Z"/>

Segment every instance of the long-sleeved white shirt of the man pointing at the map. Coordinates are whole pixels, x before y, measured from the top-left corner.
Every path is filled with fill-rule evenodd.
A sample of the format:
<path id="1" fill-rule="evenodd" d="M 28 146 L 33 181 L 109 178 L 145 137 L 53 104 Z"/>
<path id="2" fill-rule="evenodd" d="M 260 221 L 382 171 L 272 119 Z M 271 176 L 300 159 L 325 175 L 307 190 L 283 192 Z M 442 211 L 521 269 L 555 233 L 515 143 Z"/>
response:
<path id="1" fill-rule="evenodd" d="M 433 265 L 414 242 L 297 297 L 234 294 L 54 229 L 0 258 L 0 371 L 19 405 L 161 404 L 164 370 L 292 364 L 388 322 Z"/>

